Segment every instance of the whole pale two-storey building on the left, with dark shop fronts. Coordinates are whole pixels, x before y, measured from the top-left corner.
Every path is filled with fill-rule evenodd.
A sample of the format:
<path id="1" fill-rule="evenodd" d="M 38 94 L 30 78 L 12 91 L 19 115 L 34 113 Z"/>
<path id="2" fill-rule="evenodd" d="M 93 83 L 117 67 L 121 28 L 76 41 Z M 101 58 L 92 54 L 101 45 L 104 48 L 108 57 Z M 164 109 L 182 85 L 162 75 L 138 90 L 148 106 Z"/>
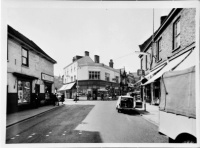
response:
<path id="1" fill-rule="evenodd" d="M 34 42 L 8 26 L 7 38 L 7 112 L 34 106 L 54 93 L 54 64 Z"/>

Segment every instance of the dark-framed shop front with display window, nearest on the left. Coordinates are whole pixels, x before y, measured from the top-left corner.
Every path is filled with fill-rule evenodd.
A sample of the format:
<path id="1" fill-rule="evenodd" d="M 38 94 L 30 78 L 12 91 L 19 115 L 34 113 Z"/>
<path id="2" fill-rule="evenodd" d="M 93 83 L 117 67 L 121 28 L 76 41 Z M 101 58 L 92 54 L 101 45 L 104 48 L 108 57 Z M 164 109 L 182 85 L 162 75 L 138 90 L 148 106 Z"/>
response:
<path id="1" fill-rule="evenodd" d="M 33 82 L 37 77 L 13 72 L 7 86 L 7 113 L 33 108 Z"/>

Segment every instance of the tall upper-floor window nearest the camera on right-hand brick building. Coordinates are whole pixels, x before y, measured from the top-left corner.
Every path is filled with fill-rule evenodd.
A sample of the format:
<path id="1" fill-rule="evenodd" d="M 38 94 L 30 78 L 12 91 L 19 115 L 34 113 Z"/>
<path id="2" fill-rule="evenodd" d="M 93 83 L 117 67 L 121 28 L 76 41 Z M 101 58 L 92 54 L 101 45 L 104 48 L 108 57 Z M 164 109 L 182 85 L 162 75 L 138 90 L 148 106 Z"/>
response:
<path id="1" fill-rule="evenodd" d="M 174 23 L 174 26 L 173 26 L 173 32 L 174 32 L 174 49 L 177 49 L 179 46 L 180 46 L 180 19 L 178 19 L 175 23 Z"/>

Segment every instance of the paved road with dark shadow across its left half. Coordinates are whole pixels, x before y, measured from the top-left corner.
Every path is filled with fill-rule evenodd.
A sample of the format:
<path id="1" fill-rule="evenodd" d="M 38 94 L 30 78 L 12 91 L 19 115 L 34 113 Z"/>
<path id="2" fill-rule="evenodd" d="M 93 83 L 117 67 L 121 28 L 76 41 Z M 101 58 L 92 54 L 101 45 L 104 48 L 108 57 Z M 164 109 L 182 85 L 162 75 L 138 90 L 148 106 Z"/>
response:
<path id="1" fill-rule="evenodd" d="M 167 143 L 136 112 L 118 113 L 116 101 L 66 102 L 6 130 L 6 143 Z"/>

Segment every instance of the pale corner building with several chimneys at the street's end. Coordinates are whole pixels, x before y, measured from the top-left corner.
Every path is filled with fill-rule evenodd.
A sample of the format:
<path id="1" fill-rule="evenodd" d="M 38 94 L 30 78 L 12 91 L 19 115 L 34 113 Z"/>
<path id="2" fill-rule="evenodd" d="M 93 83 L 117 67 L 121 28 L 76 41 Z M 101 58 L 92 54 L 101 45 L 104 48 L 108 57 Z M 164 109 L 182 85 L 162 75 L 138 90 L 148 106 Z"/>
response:
<path id="1" fill-rule="evenodd" d="M 118 93 L 120 82 L 120 71 L 113 68 L 113 61 L 109 66 L 100 63 L 100 57 L 94 56 L 94 61 L 90 58 L 89 52 L 85 51 L 85 56 L 75 56 L 72 63 L 64 68 L 63 83 L 60 90 L 65 91 L 65 97 L 74 98 L 76 92 L 88 96 L 92 99 L 99 99 L 102 92 Z M 109 87 L 109 90 L 106 88 Z"/>

